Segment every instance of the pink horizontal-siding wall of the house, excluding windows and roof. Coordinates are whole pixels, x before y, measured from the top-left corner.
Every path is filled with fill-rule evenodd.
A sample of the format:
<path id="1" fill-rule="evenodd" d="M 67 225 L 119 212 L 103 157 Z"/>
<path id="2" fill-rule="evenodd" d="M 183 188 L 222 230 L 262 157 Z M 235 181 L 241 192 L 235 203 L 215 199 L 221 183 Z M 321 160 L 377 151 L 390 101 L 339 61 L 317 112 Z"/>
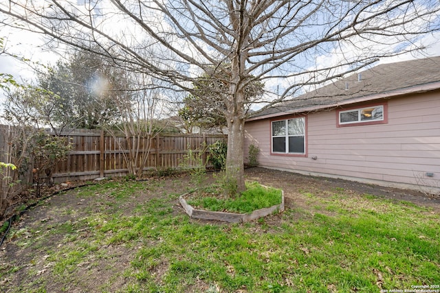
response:
<path id="1" fill-rule="evenodd" d="M 246 122 L 245 148 L 251 143 L 260 148 L 261 167 L 386 186 L 426 186 L 427 191 L 438 193 L 440 91 L 374 103 L 382 102 L 387 105 L 385 124 L 338 127 L 337 110 L 309 113 L 305 156 L 271 153 L 271 121 L 294 115 Z"/>

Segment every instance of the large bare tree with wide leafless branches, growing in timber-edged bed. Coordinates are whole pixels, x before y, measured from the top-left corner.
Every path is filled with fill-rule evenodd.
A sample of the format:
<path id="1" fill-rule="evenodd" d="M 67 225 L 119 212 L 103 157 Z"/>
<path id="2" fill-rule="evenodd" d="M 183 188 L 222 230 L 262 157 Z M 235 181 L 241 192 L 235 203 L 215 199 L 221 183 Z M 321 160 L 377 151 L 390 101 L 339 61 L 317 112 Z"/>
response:
<path id="1" fill-rule="evenodd" d="M 96 53 L 119 66 L 185 91 L 203 73 L 221 78 L 228 85 L 219 93 L 229 130 L 226 175 L 237 191 L 245 188 L 246 104 L 294 99 L 305 86 L 417 49 L 411 44 L 420 36 L 439 30 L 437 0 L 80 2 L 10 0 L 0 12 L 10 17 L 3 24 L 45 34 L 50 45 L 98 45 Z M 254 81 L 265 83 L 265 101 L 246 99 Z"/>

